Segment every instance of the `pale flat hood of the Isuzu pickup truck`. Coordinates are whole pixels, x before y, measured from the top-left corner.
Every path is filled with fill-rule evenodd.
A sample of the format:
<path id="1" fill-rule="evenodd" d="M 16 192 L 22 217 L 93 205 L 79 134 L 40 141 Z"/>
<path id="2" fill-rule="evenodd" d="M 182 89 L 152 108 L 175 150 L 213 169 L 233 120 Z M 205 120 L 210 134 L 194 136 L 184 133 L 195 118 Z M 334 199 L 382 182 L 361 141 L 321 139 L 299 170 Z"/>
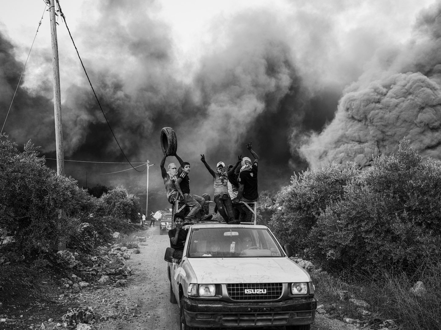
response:
<path id="1" fill-rule="evenodd" d="M 288 258 L 189 258 L 198 283 L 310 282 Z"/>

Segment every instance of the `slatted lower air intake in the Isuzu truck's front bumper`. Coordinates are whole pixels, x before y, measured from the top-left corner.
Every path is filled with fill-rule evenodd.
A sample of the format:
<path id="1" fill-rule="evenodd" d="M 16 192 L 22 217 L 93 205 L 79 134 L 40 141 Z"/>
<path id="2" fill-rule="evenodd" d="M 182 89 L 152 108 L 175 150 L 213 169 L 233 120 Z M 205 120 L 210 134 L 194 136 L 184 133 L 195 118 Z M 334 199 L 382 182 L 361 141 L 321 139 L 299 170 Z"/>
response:
<path id="1" fill-rule="evenodd" d="M 277 326 L 288 323 L 289 312 L 222 315 L 224 326 Z"/>

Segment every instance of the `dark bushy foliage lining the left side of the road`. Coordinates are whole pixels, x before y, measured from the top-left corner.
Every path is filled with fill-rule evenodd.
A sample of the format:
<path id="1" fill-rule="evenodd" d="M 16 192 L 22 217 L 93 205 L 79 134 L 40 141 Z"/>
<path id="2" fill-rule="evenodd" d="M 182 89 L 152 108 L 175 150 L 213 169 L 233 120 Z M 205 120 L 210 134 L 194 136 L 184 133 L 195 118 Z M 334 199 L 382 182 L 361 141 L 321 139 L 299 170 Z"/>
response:
<path id="1" fill-rule="evenodd" d="M 128 220 L 138 221 L 139 198 L 117 187 L 93 197 L 71 177 L 57 176 L 38 157 L 30 141 L 24 151 L 0 136 L 0 228 L 14 236 L 17 253 L 56 249 L 79 235 L 79 224 L 90 222 L 102 238 Z M 84 227 L 84 226 L 82 226 Z"/>

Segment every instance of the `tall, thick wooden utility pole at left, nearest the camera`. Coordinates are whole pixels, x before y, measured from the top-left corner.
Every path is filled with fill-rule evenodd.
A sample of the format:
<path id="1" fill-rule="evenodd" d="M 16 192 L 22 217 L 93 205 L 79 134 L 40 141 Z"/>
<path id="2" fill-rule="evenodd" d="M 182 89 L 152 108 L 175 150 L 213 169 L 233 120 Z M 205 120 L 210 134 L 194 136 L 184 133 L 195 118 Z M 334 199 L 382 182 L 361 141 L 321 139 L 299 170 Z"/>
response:
<path id="1" fill-rule="evenodd" d="M 54 76 L 54 117 L 56 143 L 56 173 L 64 176 L 63 127 L 61 126 L 60 66 L 58 64 L 58 42 L 56 38 L 55 1 L 49 0 L 51 19 L 52 70 Z"/>

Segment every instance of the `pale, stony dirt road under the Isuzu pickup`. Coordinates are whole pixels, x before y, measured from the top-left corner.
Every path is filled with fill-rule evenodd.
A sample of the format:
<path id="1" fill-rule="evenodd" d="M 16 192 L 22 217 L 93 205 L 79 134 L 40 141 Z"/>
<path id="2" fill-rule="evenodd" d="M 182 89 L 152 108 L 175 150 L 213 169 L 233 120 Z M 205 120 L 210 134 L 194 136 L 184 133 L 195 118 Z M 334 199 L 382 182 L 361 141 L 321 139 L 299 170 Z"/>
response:
<path id="1" fill-rule="evenodd" d="M 165 249 L 170 246 L 168 235 L 159 235 L 158 227 L 151 227 L 139 236 L 149 236 L 146 243 L 140 243 L 140 254 L 132 254 L 128 260 L 134 275 L 123 294 L 128 300 L 137 301 L 139 316 L 130 323 L 121 321 L 106 325 L 106 329 L 123 330 L 179 330 L 177 304 L 169 301 L 169 282 L 164 261 Z M 355 326 L 317 315 L 313 330 L 354 330 Z M 260 328 L 260 330 L 263 330 Z"/>

